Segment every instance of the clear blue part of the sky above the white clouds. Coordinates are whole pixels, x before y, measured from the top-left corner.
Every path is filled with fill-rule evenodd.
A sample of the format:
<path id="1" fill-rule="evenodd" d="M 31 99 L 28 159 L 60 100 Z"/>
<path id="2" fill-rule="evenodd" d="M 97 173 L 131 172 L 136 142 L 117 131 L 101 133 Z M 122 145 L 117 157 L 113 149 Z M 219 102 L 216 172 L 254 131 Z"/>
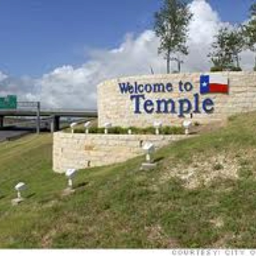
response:
<path id="1" fill-rule="evenodd" d="M 0 70 L 32 77 L 88 60 L 88 49 L 118 47 L 152 28 L 160 0 L 1 0 Z M 241 22 L 254 0 L 209 0 L 222 21 Z"/>

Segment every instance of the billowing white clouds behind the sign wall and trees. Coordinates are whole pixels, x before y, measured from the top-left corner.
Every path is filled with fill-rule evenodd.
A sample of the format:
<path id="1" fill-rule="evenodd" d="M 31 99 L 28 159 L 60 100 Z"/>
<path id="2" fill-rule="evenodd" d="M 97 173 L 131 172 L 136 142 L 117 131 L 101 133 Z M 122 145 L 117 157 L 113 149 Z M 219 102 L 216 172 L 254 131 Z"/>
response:
<path id="1" fill-rule="evenodd" d="M 190 9 L 194 14 L 189 27 L 190 54 L 184 58 L 182 71 L 205 72 L 211 66 L 207 54 L 213 36 L 222 23 L 205 0 L 194 0 Z M 101 81 L 119 76 L 150 74 L 151 67 L 155 73 L 165 72 L 166 63 L 162 56 L 158 56 L 158 44 L 154 32 L 146 30 L 136 37 L 127 34 L 118 48 L 90 50 L 90 60 L 79 68 L 58 67 L 36 80 L 27 77 L 14 79 L 0 72 L 1 91 L 16 93 L 22 100 L 40 100 L 44 107 L 96 108 L 96 85 Z M 252 68 L 252 54 L 245 52 L 241 56 L 243 67 Z"/>

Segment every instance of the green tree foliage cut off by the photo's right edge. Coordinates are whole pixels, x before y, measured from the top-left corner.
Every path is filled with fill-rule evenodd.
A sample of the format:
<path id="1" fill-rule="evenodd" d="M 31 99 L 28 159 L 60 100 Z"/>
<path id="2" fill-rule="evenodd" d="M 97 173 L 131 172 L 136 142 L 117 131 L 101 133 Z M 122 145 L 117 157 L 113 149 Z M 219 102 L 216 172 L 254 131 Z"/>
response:
<path id="1" fill-rule="evenodd" d="M 252 4 L 250 8 L 250 20 L 244 26 L 244 34 L 247 48 L 256 53 L 256 3 Z M 256 55 L 254 70 L 256 71 Z"/>

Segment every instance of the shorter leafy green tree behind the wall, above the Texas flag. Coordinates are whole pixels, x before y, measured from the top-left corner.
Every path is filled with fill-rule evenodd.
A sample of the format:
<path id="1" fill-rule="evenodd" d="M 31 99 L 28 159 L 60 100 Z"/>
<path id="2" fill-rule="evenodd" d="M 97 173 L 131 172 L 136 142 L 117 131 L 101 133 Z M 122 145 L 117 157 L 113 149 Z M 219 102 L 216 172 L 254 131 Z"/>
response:
<path id="1" fill-rule="evenodd" d="M 244 45 L 244 34 L 240 26 L 220 28 L 212 43 L 212 52 L 208 55 L 214 68 L 240 69 L 239 54 L 244 49 Z"/>

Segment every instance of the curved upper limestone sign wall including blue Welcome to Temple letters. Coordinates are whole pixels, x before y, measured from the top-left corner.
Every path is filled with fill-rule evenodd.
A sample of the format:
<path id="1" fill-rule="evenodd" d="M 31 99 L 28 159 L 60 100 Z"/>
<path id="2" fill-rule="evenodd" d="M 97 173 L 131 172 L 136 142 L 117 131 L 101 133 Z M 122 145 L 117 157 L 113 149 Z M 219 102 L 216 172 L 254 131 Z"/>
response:
<path id="1" fill-rule="evenodd" d="M 207 75 L 210 83 L 216 75 L 228 81 L 228 91 L 202 90 Z M 193 121 L 208 123 L 252 110 L 256 110 L 256 72 L 134 76 L 98 85 L 99 126 L 111 122 L 145 127 L 158 120 L 173 125 L 191 116 Z"/>

